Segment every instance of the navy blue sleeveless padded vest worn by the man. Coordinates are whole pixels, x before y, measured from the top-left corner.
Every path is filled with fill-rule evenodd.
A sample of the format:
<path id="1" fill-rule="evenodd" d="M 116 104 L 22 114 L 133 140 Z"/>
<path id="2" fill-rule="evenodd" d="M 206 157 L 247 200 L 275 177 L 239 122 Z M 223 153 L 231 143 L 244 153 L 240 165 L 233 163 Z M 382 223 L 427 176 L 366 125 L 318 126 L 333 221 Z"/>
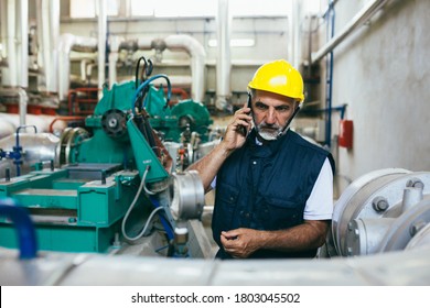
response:
<path id="1" fill-rule="evenodd" d="M 255 140 L 252 130 L 217 174 L 212 230 L 221 258 L 232 257 L 221 244 L 222 231 L 282 230 L 302 223 L 305 202 L 325 158 L 334 173 L 332 155 L 291 130 L 262 146 Z M 260 250 L 250 257 L 313 257 L 315 253 Z"/>

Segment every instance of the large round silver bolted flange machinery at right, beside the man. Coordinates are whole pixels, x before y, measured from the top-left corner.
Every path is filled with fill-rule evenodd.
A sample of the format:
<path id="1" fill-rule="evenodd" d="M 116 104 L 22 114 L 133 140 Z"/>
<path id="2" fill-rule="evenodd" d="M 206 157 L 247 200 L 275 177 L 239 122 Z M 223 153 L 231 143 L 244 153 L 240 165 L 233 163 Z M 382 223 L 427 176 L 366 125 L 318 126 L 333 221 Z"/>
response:
<path id="1" fill-rule="evenodd" d="M 332 256 L 405 251 L 430 242 L 430 173 L 387 168 L 353 182 L 336 201 Z"/>

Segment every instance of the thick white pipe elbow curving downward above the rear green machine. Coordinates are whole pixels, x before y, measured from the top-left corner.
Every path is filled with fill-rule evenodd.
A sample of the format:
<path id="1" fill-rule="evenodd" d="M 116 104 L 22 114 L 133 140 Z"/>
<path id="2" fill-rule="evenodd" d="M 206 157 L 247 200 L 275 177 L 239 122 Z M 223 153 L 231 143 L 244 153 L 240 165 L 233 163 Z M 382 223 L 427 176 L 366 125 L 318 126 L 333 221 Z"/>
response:
<path id="1" fill-rule="evenodd" d="M 185 34 L 170 35 L 164 38 L 164 43 L 169 50 L 184 50 L 191 56 L 191 97 L 195 101 L 203 101 L 206 59 L 204 47 L 196 38 Z"/>

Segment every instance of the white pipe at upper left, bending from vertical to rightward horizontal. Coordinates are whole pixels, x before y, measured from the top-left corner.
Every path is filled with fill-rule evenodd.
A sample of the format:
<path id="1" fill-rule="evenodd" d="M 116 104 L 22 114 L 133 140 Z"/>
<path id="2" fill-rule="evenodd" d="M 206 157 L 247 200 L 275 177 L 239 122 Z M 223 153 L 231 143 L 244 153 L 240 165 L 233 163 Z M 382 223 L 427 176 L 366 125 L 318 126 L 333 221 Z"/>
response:
<path id="1" fill-rule="evenodd" d="M 71 84 L 71 51 L 94 53 L 97 50 L 97 40 L 65 33 L 60 37 L 58 48 L 58 97 L 60 100 L 65 100 Z"/>

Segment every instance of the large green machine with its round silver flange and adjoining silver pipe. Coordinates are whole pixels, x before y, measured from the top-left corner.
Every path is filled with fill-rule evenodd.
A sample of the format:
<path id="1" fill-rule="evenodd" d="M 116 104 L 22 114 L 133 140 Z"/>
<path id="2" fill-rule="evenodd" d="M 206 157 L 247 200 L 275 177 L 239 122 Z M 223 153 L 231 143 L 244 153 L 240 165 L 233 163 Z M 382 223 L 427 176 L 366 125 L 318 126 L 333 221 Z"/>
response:
<path id="1" fill-rule="evenodd" d="M 168 82 L 165 99 L 151 84 L 160 78 Z M 164 138 L 178 139 L 193 127 L 178 125 L 183 119 L 171 116 L 175 109 L 170 111 L 169 99 L 169 78 L 144 75 L 104 89 L 85 128 L 67 128 L 57 140 L 17 130 L 13 150 L 0 152 L 9 162 L 0 178 L 0 199 L 11 198 L 29 211 L 41 250 L 123 253 L 140 245 L 136 254 L 192 255 L 190 221 L 198 221 L 203 212 L 203 186 L 196 173 L 178 166 L 176 153 L 169 153 L 162 134 L 151 127 L 151 119 L 159 119 L 146 108 L 162 103 L 164 121 L 176 123 L 175 129 L 170 124 Z M 202 112 L 200 107 L 197 112 Z M 207 127 L 200 129 L 204 140 Z M 46 144 L 42 154 L 26 146 L 31 140 L 51 142 L 42 142 Z M 17 246 L 14 228 L 4 217 L 0 218 L 0 245 Z"/>

